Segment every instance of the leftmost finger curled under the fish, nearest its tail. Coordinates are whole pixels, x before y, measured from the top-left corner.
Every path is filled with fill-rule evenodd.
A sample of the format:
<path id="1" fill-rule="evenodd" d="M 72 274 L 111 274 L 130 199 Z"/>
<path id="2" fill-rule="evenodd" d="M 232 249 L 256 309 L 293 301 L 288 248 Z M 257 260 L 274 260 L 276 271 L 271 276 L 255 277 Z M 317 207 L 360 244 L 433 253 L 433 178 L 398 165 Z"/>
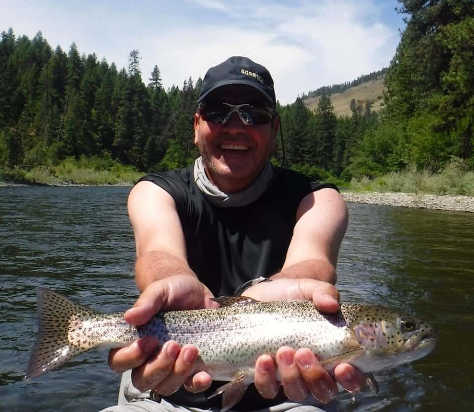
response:
<path id="1" fill-rule="evenodd" d="M 116 373 L 138 367 L 158 349 L 159 345 L 158 339 L 150 336 L 138 339 L 130 346 L 112 349 L 109 352 L 109 366 Z"/>

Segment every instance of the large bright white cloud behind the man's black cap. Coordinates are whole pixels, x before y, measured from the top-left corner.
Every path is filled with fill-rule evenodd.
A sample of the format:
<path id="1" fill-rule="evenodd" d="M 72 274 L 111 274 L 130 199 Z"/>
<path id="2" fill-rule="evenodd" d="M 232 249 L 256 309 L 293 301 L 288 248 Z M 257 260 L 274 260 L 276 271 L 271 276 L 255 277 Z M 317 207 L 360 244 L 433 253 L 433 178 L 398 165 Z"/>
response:
<path id="1" fill-rule="evenodd" d="M 201 23 L 197 28 L 181 27 L 155 37 L 155 64 L 165 84 L 181 86 L 189 75 L 196 80 L 231 55 L 245 55 L 270 70 L 277 98 L 289 103 L 299 93 L 350 81 L 388 65 L 395 52 L 394 47 L 387 47 L 391 32 L 377 21 L 362 21 L 370 10 L 368 5 L 333 1 L 323 6 L 279 6 L 272 8 L 270 17 L 263 8 L 247 14 L 234 8 L 232 13 L 240 17 L 233 24 Z M 273 26 L 251 24 L 261 21 L 265 13 Z M 250 28 L 242 30 L 244 18 Z M 143 66 L 146 64 L 144 57 Z"/>

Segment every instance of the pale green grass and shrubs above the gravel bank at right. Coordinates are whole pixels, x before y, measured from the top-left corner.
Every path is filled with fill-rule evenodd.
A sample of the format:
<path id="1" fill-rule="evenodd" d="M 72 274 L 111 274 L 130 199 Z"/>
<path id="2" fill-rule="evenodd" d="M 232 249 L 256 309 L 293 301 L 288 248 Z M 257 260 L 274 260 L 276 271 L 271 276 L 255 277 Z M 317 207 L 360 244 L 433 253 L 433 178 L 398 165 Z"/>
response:
<path id="1" fill-rule="evenodd" d="M 453 159 L 438 173 L 412 169 L 374 179 L 353 179 L 350 190 L 474 196 L 474 172 L 460 159 Z"/>

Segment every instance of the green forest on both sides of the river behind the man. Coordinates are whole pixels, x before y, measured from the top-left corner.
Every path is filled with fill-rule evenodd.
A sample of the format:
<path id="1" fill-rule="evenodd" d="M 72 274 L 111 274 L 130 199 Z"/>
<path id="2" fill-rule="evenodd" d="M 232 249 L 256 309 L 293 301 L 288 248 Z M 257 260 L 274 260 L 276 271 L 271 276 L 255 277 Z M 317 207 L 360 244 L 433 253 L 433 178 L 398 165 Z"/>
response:
<path id="1" fill-rule="evenodd" d="M 330 90 L 315 111 L 301 97 L 278 103 L 286 166 L 346 181 L 407 167 L 436 171 L 453 157 L 474 168 L 474 1 L 400 2 L 406 28 L 386 70 L 384 110 L 372 113 L 370 102 L 353 100 L 351 116 L 337 118 Z M 40 32 L 31 40 L 2 32 L 0 168 L 71 156 L 143 172 L 189 165 L 198 155 L 193 117 L 201 79 L 164 90 L 156 65 L 145 85 L 140 53 L 128 57 L 127 69 L 118 70 L 75 44 L 53 50 Z"/>

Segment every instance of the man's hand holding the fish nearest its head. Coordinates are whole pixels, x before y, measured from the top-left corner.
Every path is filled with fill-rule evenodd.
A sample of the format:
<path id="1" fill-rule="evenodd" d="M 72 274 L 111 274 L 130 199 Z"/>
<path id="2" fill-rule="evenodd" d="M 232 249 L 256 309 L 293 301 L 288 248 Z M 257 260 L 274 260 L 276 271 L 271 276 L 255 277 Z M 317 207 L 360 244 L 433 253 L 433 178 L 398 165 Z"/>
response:
<path id="1" fill-rule="evenodd" d="M 333 313 L 339 309 L 339 293 L 330 283 L 315 279 L 278 278 L 262 282 L 247 289 L 243 295 L 260 301 L 303 299 L 313 300 L 317 309 Z M 336 380 L 347 390 L 356 391 L 365 385 L 365 376 L 348 364 L 334 369 L 335 379 L 322 367 L 311 350 L 296 352 L 282 347 L 276 359 L 268 355 L 258 358 L 255 365 L 255 386 L 265 398 L 274 398 L 280 383 L 276 380 L 276 367 L 281 374 L 281 384 L 288 399 L 301 401 L 312 394 L 323 403 L 337 396 Z"/>

